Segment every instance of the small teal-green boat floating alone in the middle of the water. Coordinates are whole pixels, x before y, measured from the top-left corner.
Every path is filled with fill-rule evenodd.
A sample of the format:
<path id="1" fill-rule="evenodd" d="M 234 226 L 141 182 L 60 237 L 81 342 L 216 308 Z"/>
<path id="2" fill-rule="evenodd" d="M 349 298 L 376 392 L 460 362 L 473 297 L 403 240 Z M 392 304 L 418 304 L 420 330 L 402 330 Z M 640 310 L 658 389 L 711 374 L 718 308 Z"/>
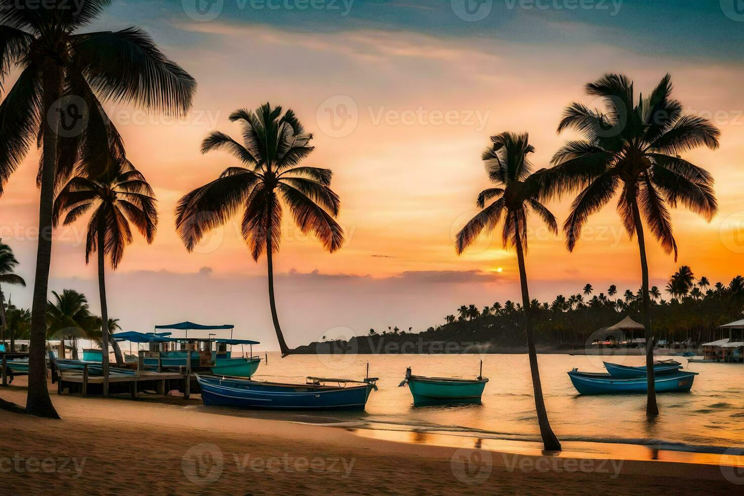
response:
<path id="1" fill-rule="evenodd" d="M 481 372 L 483 364 L 481 362 Z M 426 377 L 411 374 L 411 367 L 405 370 L 405 379 L 399 387 L 408 384 L 414 406 L 452 405 L 480 403 L 488 379 L 479 375 L 475 379 L 453 377 Z"/>

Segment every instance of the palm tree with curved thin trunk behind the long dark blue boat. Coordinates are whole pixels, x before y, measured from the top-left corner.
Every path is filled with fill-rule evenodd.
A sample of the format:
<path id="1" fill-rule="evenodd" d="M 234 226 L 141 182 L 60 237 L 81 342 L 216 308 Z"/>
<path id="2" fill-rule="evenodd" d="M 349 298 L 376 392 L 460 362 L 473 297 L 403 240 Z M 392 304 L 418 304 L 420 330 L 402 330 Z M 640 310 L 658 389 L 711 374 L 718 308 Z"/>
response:
<path id="1" fill-rule="evenodd" d="M 243 239 L 253 260 L 266 253 L 269 305 L 282 356 L 289 354 L 274 300 L 272 257 L 279 251 L 282 202 L 303 233 L 314 233 L 330 252 L 341 248 L 344 231 L 334 220 L 339 215 L 339 196 L 330 189 L 333 173 L 300 163 L 315 148 L 312 134 L 305 132 L 295 112 L 266 103 L 255 112 L 240 109 L 230 120 L 243 125 L 243 144 L 215 131 L 202 142 L 202 153 L 224 149 L 240 162 L 217 179 L 184 196 L 176 207 L 176 230 L 188 251 L 205 232 L 222 225 L 243 210 Z"/>

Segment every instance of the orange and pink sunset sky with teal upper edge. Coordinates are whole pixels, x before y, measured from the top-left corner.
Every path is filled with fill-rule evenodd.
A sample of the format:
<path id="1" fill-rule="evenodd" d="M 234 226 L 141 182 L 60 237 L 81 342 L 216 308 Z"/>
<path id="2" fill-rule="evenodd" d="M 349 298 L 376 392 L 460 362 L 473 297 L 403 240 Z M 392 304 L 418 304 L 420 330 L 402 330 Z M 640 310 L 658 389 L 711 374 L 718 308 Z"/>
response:
<path id="1" fill-rule="evenodd" d="M 536 147 L 533 162 L 548 167 L 559 145 L 574 137 L 556 133 L 562 109 L 574 100 L 592 103 L 583 85 L 608 71 L 628 74 L 644 93 L 670 72 L 686 112 L 711 118 L 722 132 L 719 149 L 685 155 L 716 178 L 719 214 L 707 223 L 673 210 L 679 260 L 649 243 L 652 284 L 663 288 L 683 264 L 713 282 L 728 283 L 743 272 L 744 71 L 741 54 L 732 50 L 741 51 L 744 22 L 716 10 L 718 2 L 713 10 L 676 11 L 682 25 L 698 23 L 685 33 L 666 33 L 658 19 L 664 11 L 635 1 L 624 2 L 615 16 L 494 6 L 478 22 L 459 19 L 456 2 L 357 1 L 342 15 L 251 11 L 225 0 L 209 21 L 189 16 L 187 3 L 115 2 L 90 27 L 144 28 L 199 83 L 190 115 L 178 120 L 107 106 L 129 159 L 155 189 L 160 214 L 153 245 L 136 236 L 116 274 L 109 272 L 109 313 L 125 330 L 147 332 L 182 320 L 234 323 L 236 335 L 277 348 L 266 260 L 254 263 L 248 255 L 237 220 L 191 254 L 173 225 L 176 201 L 234 164 L 226 153 L 201 155 L 202 139 L 213 129 L 238 138 L 230 112 L 267 100 L 294 109 L 315 133 L 307 164 L 333 170 L 339 223 L 347 233 L 344 248 L 328 254 L 285 215 L 275 271 L 290 345 L 387 326 L 418 331 L 443 323 L 461 304 L 519 299 L 516 257 L 501 249 L 498 236 L 455 254 L 454 233 L 488 186 L 481 151 L 490 135 L 527 131 Z M 714 31 L 717 41 L 710 42 Z M 29 283 L 37 164 L 33 150 L 0 199 L 0 236 L 16 251 Z M 569 202 L 548 205 L 559 222 Z M 638 248 L 614 206 L 591 218 L 573 254 L 562 235 L 548 234 L 532 219 L 527 274 L 533 297 L 553 300 L 586 283 L 597 292 L 611 283 L 621 292 L 640 286 Z M 50 289 L 86 292 L 97 311 L 85 226 L 57 230 Z M 13 303 L 30 305 L 31 287 L 6 292 Z"/>

